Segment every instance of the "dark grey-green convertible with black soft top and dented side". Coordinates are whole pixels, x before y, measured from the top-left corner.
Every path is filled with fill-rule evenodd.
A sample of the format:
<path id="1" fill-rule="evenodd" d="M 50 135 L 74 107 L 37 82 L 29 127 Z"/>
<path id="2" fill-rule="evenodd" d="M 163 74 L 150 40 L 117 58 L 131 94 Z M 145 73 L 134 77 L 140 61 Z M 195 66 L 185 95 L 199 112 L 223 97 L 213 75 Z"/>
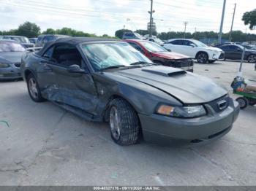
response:
<path id="1" fill-rule="evenodd" d="M 156 65 L 113 39 L 57 39 L 23 55 L 20 70 L 32 100 L 109 122 L 121 145 L 218 139 L 239 113 L 238 103 L 211 79 Z"/>

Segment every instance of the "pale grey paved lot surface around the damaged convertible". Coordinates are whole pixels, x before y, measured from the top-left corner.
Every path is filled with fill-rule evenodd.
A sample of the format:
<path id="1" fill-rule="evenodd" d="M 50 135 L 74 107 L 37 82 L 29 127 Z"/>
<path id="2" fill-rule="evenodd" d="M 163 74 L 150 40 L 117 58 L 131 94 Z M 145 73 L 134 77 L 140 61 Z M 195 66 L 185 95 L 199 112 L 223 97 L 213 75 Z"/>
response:
<path id="1" fill-rule="evenodd" d="M 224 85 L 238 62 L 195 64 Z M 244 75 L 256 83 L 254 65 Z M 143 142 L 121 147 L 108 124 L 87 122 L 50 103 L 34 103 L 23 81 L 0 82 L 0 185 L 255 185 L 256 106 L 233 130 L 197 147 Z"/>

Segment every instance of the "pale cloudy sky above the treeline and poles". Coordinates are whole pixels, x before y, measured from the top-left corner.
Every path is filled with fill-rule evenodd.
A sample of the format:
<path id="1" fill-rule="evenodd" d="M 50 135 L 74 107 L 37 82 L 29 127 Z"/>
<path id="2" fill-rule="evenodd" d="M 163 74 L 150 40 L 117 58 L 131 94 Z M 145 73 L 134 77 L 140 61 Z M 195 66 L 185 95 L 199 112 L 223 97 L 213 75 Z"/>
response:
<path id="1" fill-rule="evenodd" d="M 219 31 L 224 0 L 153 0 L 157 31 Z M 223 32 L 230 31 L 234 4 L 233 30 L 250 31 L 241 20 L 244 12 L 256 8 L 256 0 L 227 0 Z M 91 34 L 108 34 L 127 28 L 146 29 L 150 0 L 0 0 L 0 31 L 18 28 L 26 21 L 46 28 L 73 28 Z"/>

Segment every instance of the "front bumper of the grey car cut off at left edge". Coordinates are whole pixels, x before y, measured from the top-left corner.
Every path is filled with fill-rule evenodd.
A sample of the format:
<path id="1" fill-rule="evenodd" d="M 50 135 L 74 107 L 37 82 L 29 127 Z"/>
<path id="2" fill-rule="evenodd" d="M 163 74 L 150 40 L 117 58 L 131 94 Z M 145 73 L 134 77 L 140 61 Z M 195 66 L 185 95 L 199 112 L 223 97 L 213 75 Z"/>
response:
<path id="1" fill-rule="evenodd" d="M 20 79 L 20 68 L 15 66 L 10 66 L 8 68 L 0 69 L 0 79 Z"/>

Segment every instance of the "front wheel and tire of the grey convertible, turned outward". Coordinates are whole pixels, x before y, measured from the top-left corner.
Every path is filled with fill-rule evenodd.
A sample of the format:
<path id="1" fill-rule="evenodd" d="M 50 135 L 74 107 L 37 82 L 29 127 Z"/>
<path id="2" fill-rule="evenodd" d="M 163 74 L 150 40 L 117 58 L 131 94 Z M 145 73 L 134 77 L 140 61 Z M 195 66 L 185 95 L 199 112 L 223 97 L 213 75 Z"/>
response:
<path id="1" fill-rule="evenodd" d="M 110 133 L 116 144 L 127 146 L 137 144 L 140 135 L 140 122 L 135 109 L 124 99 L 110 102 Z"/>

